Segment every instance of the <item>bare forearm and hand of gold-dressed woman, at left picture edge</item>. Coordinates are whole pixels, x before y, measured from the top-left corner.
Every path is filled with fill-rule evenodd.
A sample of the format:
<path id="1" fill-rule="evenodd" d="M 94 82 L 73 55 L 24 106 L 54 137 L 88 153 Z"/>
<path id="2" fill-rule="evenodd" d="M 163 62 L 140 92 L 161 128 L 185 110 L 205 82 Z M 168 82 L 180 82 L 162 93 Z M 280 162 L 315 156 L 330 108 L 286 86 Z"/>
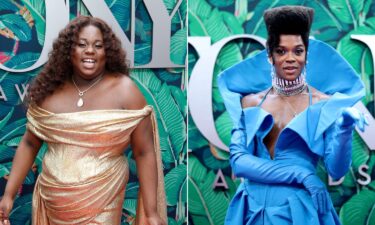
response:
<path id="1" fill-rule="evenodd" d="M 3 218 L 8 218 L 17 191 L 34 163 L 41 145 L 42 141 L 26 129 L 14 156 L 4 196 L 0 202 L 0 217 L 2 214 Z M 1 224 L 3 224 L 2 220 L 0 220 Z"/>

